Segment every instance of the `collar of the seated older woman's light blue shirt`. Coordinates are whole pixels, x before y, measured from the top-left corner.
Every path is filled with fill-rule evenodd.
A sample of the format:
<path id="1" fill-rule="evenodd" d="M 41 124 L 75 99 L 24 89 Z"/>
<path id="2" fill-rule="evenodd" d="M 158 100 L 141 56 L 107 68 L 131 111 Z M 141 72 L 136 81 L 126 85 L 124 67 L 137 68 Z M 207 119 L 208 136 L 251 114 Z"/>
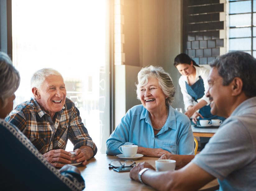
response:
<path id="1" fill-rule="evenodd" d="M 141 119 L 145 119 L 146 123 L 151 124 L 149 115 L 148 115 L 148 111 L 145 107 L 143 107 L 143 110 L 142 110 L 142 113 L 140 116 L 140 120 Z M 164 130 L 166 131 L 166 130 L 168 130 L 168 128 L 176 130 L 176 117 L 175 117 L 173 108 L 170 105 L 169 105 L 169 116 L 167 118 L 167 122 L 164 125 Z"/>

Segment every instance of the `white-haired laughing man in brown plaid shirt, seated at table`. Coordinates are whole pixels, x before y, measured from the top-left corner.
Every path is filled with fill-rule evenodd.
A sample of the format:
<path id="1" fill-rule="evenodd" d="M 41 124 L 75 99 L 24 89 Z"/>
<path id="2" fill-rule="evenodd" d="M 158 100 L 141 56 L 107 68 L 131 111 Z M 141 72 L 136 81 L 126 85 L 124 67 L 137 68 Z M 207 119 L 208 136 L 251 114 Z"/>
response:
<path id="1" fill-rule="evenodd" d="M 38 70 L 31 78 L 31 88 L 33 98 L 19 104 L 5 120 L 16 125 L 53 166 L 62 167 L 72 160 L 86 165 L 97 147 L 77 107 L 66 98 L 62 75 L 51 68 Z M 73 158 L 65 151 L 67 139 L 74 145 Z"/>

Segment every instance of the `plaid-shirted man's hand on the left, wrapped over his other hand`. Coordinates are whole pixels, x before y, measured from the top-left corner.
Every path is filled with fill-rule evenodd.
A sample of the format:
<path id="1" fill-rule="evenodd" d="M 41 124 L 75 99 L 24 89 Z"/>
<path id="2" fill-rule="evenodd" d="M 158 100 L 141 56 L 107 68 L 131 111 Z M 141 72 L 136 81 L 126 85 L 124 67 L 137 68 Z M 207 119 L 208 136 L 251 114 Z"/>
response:
<path id="1" fill-rule="evenodd" d="M 71 164 L 71 153 L 63 149 L 51 150 L 43 154 L 43 157 L 55 167 L 63 167 L 65 164 Z M 65 163 L 60 164 L 59 162 Z"/>

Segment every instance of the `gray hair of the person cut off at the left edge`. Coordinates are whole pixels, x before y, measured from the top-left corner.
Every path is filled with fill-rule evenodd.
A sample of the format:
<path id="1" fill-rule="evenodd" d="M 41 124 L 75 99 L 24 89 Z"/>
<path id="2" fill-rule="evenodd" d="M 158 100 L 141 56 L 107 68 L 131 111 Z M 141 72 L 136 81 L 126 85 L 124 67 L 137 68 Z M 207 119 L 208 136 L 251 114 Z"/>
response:
<path id="1" fill-rule="evenodd" d="M 0 52 L 0 98 L 3 102 L 16 92 L 20 80 L 20 74 L 12 66 L 10 57 L 4 52 Z"/>

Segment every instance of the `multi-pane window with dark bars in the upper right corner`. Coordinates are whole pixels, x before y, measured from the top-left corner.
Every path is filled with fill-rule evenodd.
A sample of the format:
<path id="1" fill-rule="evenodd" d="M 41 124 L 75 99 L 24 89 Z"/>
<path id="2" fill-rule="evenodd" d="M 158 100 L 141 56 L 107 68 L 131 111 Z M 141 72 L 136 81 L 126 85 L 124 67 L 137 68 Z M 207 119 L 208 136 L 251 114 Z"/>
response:
<path id="1" fill-rule="evenodd" d="M 229 1 L 229 51 L 256 57 L 256 0 Z"/>

